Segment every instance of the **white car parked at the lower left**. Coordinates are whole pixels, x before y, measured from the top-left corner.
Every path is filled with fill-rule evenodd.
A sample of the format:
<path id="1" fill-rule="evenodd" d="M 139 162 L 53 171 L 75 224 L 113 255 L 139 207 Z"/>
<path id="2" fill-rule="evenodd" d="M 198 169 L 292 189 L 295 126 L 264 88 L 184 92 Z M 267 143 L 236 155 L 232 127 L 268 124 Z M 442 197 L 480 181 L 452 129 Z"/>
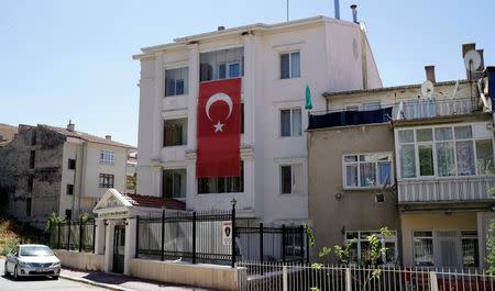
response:
<path id="1" fill-rule="evenodd" d="M 57 280 L 61 275 L 61 260 L 52 249 L 44 245 L 18 245 L 6 258 L 6 276 L 15 279 L 28 276 L 50 276 Z"/>

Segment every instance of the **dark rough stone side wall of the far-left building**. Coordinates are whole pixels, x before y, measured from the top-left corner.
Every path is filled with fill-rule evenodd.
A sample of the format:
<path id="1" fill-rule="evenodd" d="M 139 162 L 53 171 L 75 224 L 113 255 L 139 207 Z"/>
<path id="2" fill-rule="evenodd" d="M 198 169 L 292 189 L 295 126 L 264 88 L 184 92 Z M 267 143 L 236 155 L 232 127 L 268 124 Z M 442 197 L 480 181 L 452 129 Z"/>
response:
<path id="1" fill-rule="evenodd" d="M 33 137 L 35 135 L 35 137 Z M 21 222 L 43 227 L 58 212 L 65 136 L 42 125 L 20 125 L 19 135 L 0 147 L 0 194 L 3 211 Z M 34 167 L 30 165 L 34 150 Z M 30 189 L 30 180 L 32 190 Z M 28 200 L 31 199 L 31 215 Z"/>

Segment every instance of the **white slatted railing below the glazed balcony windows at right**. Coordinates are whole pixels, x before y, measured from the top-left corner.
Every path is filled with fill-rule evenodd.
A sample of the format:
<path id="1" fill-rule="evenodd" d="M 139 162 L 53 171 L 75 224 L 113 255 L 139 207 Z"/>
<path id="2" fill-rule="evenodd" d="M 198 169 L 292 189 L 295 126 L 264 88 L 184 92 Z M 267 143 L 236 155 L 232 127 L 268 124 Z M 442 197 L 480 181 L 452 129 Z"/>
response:
<path id="1" fill-rule="evenodd" d="M 398 202 L 491 200 L 495 177 L 473 177 L 397 182 Z"/>

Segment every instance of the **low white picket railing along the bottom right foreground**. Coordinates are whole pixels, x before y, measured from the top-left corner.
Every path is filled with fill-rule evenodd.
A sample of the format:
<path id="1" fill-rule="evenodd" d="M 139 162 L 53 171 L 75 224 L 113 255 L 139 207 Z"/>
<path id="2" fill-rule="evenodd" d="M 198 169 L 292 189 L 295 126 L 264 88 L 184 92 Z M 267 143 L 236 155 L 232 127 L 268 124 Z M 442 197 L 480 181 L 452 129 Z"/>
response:
<path id="1" fill-rule="evenodd" d="M 495 277 L 469 270 L 239 262 L 240 291 L 494 291 Z M 373 276 L 377 273 L 377 276 Z"/>

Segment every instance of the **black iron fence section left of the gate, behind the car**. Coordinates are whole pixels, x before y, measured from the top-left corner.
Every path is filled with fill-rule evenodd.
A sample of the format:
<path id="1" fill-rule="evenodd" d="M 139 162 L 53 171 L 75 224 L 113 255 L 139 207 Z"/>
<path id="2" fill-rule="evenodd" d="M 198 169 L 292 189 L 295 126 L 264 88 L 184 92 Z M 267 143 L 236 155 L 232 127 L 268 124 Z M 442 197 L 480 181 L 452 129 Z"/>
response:
<path id="1" fill-rule="evenodd" d="M 95 220 L 51 223 L 48 245 L 56 249 L 95 253 Z"/>

